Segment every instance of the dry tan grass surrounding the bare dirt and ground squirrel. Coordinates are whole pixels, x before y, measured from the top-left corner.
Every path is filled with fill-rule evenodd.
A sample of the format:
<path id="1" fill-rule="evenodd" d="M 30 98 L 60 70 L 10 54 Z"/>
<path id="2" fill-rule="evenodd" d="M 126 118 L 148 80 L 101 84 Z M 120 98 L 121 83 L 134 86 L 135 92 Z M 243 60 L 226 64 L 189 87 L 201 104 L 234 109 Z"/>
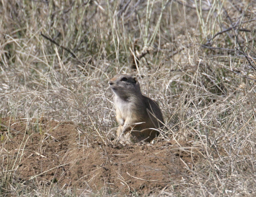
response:
<path id="1" fill-rule="evenodd" d="M 160 103 L 169 127 L 163 138 L 191 141 L 204 157 L 190 169 L 192 175 L 154 193 L 255 195 L 254 1 L 2 0 L 0 5 L 2 118 L 24 118 L 28 128 L 32 119 L 72 120 L 91 142 L 111 144 L 116 122 L 107 81 L 116 73 L 134 74 L 144 94 Z M 131 69 L 142 53 L 137 69 Z M 0 164 L 3 152 L 1 145 Z M 12 173 L 17 162 L 1 166 L 0 194 L 20 195 L 19 188 L 29 185 L 23 194 L 75 195 L 71 189 L 20 183 Z M 108 195 L 104 187 L 102 193 L 87 192 Z"/>

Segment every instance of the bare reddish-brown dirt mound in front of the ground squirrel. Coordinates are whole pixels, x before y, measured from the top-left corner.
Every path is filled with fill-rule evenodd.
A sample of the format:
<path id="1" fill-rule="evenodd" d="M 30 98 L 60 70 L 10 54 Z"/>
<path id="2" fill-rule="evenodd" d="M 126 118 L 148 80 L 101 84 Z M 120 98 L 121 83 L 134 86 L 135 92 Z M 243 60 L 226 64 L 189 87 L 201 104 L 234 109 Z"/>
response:
<path id="1" fill-rule="evenodd" d="M 186 179 L 199 159 L 185 141 L 107 146 L 87 143 L 77 128 L 73 122 L 2 120 L 2 168 L 41 186 L 148 194 Z"/>

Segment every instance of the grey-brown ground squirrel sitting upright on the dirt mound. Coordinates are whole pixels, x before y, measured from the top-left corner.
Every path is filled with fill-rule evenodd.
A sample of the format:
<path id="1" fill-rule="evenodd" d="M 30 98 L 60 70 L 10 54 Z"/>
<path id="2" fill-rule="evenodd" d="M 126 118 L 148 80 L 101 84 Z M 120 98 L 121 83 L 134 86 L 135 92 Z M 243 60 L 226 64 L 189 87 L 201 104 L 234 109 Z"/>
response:
<path id="1" fill-rule="evenodd" d="M 115 93 L 117 138 L 125 143 L 150 142 L 163 127 L 163 115 L 156 101 L 141 94 L 136 77 L 116 75 L 108 81 Z M 155 128 L 155 129 L 148 129 Z"/>

